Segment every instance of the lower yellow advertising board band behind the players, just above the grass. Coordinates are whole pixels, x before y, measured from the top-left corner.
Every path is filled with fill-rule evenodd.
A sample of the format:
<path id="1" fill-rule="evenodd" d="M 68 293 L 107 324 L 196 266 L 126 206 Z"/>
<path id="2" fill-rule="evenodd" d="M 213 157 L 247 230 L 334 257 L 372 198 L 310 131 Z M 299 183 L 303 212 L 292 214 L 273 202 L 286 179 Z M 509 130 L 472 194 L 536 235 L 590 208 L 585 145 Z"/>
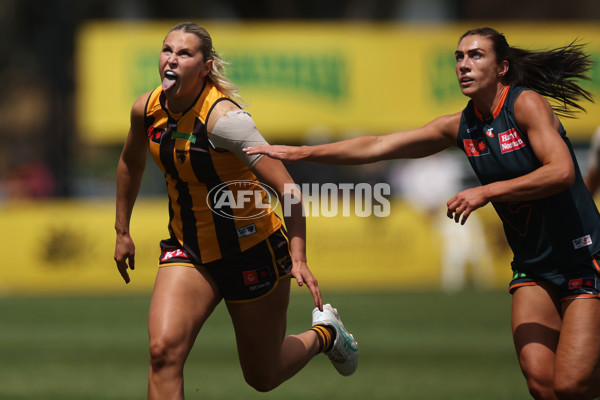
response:
<path id="1" fill-rule="evenodd" d="M 0 241 L 10 251 L 4 254 L 6 267 L 0 269 L 0 297 L 151 291 L 159 241 L 169 236 L 167 202 L 145 198 L 136 203 L 131 224 L 136 268 L 130 271 L 128 285 L 113 260 L 114 207 L 106 200 L 7 203 L 0 209 Z M 501 222 L 491 206 L 478 213 L 490 243 L 486 256 L 493 262 L 487 284 L 504 288 L 512 254 L 500 238 Z M 426 215 L 394 201 L 386 218 L 355 213 L 312 216 L 307 256 L 320 285 L 328 290 L 436 290 L 441 287 L 443 256 L 439 235 Z"/>

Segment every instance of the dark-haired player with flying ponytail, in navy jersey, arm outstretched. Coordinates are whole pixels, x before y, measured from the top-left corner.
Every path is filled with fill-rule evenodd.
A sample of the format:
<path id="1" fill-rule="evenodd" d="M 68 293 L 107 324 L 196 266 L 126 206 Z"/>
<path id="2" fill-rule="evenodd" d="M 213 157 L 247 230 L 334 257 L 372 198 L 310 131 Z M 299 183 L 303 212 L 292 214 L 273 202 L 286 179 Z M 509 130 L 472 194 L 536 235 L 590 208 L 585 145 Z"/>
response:
<path id="1" fill-rule="evenodd" d="M 286 161 L 365 164 L 461 148 L 481 186 L 448 203 L 464 224 L 491 202 L 514 253 L 512 332 L 536 399 L 600 396 L 600 216 L 583 183 L 557 114 L 590 94 L 578 86 L 590 68 L 582 46 L 533 52 L 510 47 L 491 28 L 466 32 L 456 74 L 471 100 L 462 112 L 384 136 L 319 146 L 260 145 L 247 154 Z M 549 97 L 559 106 L 553 110 Z"/>

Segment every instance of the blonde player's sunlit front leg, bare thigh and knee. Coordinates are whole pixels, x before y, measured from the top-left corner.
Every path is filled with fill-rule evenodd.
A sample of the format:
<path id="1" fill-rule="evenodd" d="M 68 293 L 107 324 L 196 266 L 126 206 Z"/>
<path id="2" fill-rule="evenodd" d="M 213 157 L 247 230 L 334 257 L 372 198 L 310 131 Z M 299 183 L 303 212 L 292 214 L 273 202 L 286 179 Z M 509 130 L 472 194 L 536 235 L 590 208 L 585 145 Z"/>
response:
<path id="1" fill-rule="evenodd" d="M 148 399 L 183 399 L 183 365 L 221 296 L 201 268 L 161 267 L 150 312 Z"/>

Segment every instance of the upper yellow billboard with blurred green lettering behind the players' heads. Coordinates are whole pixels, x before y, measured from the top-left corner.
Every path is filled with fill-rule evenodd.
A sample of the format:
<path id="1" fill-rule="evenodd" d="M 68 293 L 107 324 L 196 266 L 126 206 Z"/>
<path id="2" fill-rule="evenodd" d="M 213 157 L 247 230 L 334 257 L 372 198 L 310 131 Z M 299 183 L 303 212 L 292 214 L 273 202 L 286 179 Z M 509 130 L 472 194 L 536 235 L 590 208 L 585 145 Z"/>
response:
<path id="1" fill-rule="evenodd" d="M 121 143 L 134 100 L 159 84 L 162 40 L 177 22 L 90 22 L 77 48 L 78 130 L 88 143 Z M 272 142 L 381 134 L 421 126 L 467 102 L 453 53 L 471 25 L 307 22 L 202 23 L 228 77 L 259 130 Z M 513 46 L 549 49 L 574 39 L 600 62 L 593 24 L 493 23 Z M 583 86 L 600 98 L 600 66 Z M 600 125 L 600 103 L 563 120 L 569 136 L 587 139 Z"/>

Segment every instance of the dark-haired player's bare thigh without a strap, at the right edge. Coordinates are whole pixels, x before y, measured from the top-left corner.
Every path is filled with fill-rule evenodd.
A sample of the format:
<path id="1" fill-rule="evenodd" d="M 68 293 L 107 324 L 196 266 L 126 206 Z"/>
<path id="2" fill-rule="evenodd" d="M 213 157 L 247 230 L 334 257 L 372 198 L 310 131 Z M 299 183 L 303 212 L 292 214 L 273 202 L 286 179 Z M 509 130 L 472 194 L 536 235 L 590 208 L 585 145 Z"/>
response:
<path id="1" fill-rule="evenodd" d="M 559 399 L 600 396 L 600 299 L 565 303 L 554 380 Z"/>

